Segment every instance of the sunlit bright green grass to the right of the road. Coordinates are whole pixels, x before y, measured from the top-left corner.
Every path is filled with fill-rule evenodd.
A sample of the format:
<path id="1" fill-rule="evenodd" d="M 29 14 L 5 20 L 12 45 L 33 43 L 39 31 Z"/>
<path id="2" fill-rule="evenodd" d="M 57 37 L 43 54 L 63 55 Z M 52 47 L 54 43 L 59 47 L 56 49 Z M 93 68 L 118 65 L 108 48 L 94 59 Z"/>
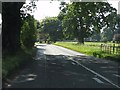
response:
<path id="1" fill-rule="evenodd" d="M 98 58 L 105 58 L 114 61 L 120 61 L 120 54 L 108 54 L 101 51 L 99 47 L 101 42 L 85 42 L 84 45 L 77 44 L 77 42 L 56 42 L 54 45 L 62 46 L 89 56 L 95 56 Z M 111 44 L 111 43 L 110 43 Z"/>

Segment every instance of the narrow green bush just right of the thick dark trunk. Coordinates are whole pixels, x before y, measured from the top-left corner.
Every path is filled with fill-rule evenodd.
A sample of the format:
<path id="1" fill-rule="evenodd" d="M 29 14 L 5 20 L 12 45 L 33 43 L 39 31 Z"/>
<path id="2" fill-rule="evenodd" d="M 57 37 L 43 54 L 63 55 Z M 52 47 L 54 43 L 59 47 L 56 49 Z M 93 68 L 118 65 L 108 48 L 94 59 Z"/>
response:
<path id="1" fill-rule="evenodd" d="M 36 22 L 33 16 L 27 16 L 21 28 L 21 43 L 26 48 L 34 46 L 36 41 Z"/>

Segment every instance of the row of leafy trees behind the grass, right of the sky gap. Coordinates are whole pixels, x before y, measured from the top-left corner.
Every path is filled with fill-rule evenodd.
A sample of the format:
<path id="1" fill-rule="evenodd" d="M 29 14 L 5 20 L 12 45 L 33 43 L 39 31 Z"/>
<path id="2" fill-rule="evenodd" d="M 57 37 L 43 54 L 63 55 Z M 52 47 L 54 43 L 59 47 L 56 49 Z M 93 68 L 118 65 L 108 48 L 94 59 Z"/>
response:
<path id="1" fill-rule="evenodd" d="M 57 17 L 40 22 L 39 33 L 51 41 L 112 41 L 120 33 L 120 15 L 108 2 L 61 2 Z M 44 33 L 44 34 L 43 34 Z M 114 39 L 115 40 L 115 39 Z"/>

